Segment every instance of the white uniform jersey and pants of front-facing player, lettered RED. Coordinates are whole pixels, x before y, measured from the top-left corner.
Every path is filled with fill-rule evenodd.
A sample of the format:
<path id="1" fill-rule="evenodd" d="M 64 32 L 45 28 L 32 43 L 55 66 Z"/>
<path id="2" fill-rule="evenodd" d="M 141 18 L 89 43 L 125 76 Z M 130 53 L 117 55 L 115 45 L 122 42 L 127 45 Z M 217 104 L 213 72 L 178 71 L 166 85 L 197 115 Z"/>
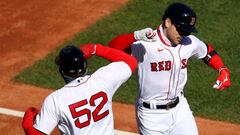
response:
<path id="1" fill-rule="evenodd" d="M 139 97 L 137 122 L 141 135 L 198 135 L 196 122 L 182 94 L 187 82 L 189 58 L 201 59 L 207 54 L 206 45 L 193 35 L 184 37 L 176 47 L 163 35 L 160 25 L 155 31 L 156 42 L 133 43 L 132 54 L 138 60 Z M 177 106 L 157 109 L 179 99 Z M 173 100 L 172 100 L 173 99 Z M 143 106 L 148 103 L 149 108 Z"/>

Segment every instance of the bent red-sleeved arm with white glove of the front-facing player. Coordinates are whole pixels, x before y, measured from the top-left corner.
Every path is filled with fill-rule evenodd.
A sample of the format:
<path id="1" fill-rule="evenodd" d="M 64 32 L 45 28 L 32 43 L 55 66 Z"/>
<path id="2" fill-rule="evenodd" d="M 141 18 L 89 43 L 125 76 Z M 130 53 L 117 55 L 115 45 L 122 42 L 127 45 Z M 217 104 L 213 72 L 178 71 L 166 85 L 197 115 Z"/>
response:
<path id="1" fill-rule="evenodd" d="M 130 45 L 138 40 L 152 42 L 156 40 L 156 33 L 151 28 L 145 28 L 142 30 L 135 31 L 131 34 L 122 34 L 113 38 L 108 46 L 129 52 Z"/>

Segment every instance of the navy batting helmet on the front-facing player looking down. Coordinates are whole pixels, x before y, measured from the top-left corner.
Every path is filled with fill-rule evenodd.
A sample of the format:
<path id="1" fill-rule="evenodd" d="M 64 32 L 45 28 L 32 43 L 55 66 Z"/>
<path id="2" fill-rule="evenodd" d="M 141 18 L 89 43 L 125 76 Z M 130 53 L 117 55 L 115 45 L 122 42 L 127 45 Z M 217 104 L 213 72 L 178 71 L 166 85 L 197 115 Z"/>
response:
<path id="1" fill-rule="evenodd" d="M 188 33 L 197 32 L 194 27 L 196 23 L 196 13 L 187 5 L 182 3 L 173 3 L 167 7 L 162 20 L 169 18 L 176 26 L 177 30 Z"/>

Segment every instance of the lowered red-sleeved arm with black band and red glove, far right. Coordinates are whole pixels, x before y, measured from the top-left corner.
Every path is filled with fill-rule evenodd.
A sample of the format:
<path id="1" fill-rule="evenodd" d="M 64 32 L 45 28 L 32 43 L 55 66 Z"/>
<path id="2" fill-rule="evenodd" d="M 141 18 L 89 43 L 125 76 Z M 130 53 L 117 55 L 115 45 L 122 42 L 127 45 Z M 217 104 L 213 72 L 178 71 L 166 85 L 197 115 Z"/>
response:
<path id="1" fill-rule="evenodd" d="M 217 70 L 219 72 L 219 76 L 217 81 L 213 85 L 213 88 L 222 90 L 224 88 L 231 86 L 230 81 L 230 71 L 227 67 L 224 66 L 222 59 L 218 55 L 218 53 L 214 50 L 211 44 L 207 44 L 207 55 L 204 58 L 204 62 Z"/>

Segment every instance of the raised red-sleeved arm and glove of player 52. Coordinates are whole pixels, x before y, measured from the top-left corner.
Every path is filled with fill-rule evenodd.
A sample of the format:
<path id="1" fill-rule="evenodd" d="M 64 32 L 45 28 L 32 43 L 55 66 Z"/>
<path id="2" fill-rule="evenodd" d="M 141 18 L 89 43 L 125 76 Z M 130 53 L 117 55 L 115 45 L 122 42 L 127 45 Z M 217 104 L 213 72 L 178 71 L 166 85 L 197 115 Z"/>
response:
<path id="1" fill-rule="evenodd" d="M 81 45 L 80 49 L 83 51 L 87 59 L 92 55 L 97 55 L 111 62 L 123 61 L 128 64 L 132 72 L 134 72 L 137 67 L 137 60 L 133 56 L 111 47 L 101 44 L 85 44 Z"/>

